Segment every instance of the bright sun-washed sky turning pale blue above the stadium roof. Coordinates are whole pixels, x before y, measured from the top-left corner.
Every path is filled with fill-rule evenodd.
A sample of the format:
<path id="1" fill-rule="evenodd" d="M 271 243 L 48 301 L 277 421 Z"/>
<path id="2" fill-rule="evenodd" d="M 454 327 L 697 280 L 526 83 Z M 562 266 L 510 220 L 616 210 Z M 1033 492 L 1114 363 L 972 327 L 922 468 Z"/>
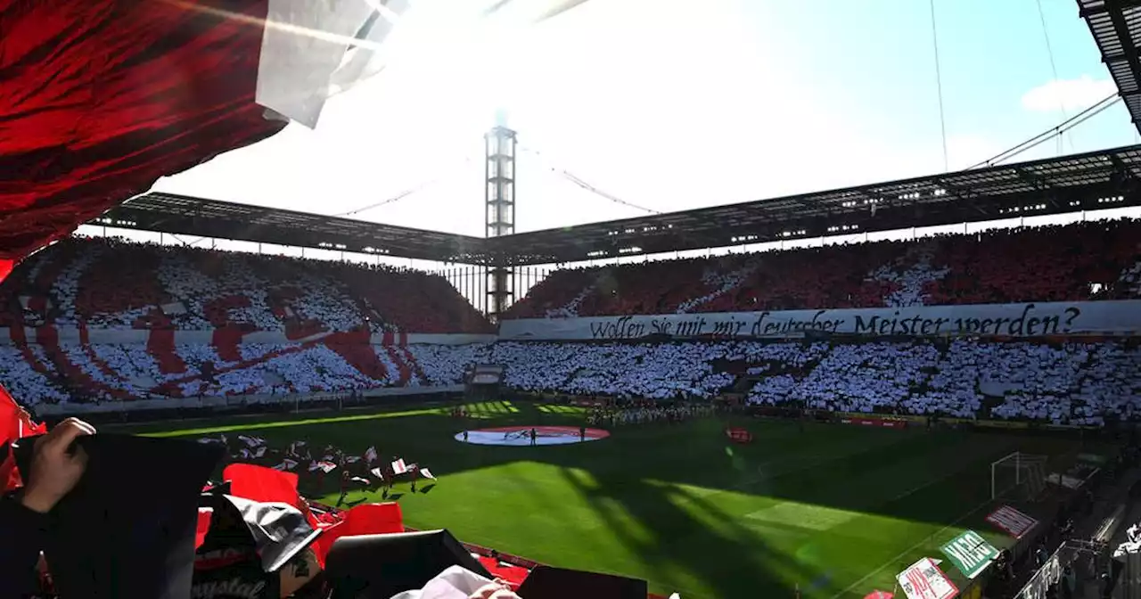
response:
<path id="1" fill-rule="evenodd" d="M 1115 90 L 1074 0 L 1042 0 L 1057 81 L 1035 0 L 934 5 L 952 169 Z M 644 213 L 552 169 L 661 211 L 944 170 L 928 0 L 590 0 L 527 30 L 403 25 L 390 66 L 330 100 L 316 130 L 290 126 L 156 189 L 329 214 L 418 189 L 355 218 L 482 235 L 496 108 L 526 148 L 520 230 Z M 1135 141 L 1118 105 L 1061 151 Z"/>

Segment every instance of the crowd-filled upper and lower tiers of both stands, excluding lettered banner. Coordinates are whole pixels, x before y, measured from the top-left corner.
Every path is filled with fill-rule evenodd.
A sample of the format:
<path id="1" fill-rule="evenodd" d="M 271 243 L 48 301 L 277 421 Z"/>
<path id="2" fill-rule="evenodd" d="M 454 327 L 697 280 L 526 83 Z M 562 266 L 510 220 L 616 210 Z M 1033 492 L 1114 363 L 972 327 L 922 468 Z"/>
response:
<path id="1" fill-rule="evenodd" d="M 512 314 L 1135 298 L 1139 233 L 1134 220 L 1093 221 L 559 270 Z M 1141 415 L 1141 351 L 1127 340 L 406 343 L 393 333 L 492 329 L 444 278 L 422 272 L 116 238 L 57 243 L 0 291 L 0 325 L 11 334 L 0 346 L 0 383 L 33 405 L 444 387 L 462 383 L 470 364 L 494 363 L 524 392 L 737 391 L 762 406 L 1090 424 Z M 79 338 L 60 339 L 66 329 Z M 91 342 L 90 331 L 147 337 Z M 178 331 L 212 337 L 187 343 Z M 257 331 L 288 341 L 243 340 Z"/>

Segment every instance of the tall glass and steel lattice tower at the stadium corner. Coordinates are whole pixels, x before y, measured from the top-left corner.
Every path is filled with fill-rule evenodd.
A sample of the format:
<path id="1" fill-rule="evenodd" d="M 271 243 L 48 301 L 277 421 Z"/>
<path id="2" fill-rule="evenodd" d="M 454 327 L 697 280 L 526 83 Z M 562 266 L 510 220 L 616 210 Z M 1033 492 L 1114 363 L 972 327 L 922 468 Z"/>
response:
<path id="1" fill-rule="evenodd" d="M 484 135 L 487 159 L 484 162 L 487 185 L 484 188 L 487 226 L 486 237 L 499 237 L 515 233 L 515 131 L 508 129 L 502 119 L 500 124 Z M 511 307 L 515 289 L 515 268 L 496 262 L 487 269 L 487 296 L 491 300 L 487 317 L 497 322 L 499 316 Z"/>

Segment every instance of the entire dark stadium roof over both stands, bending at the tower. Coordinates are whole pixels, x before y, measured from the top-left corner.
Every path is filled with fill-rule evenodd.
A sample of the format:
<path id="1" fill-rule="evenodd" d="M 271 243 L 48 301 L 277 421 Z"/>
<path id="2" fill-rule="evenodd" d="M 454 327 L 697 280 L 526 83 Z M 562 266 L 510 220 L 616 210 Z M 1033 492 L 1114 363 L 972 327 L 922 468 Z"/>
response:
<path id="1" fill-rule="evenodd" d="M 159 193 L 91 224 L 518 266 L 1135 205 L 1141 145 L 491 240 Z"/>

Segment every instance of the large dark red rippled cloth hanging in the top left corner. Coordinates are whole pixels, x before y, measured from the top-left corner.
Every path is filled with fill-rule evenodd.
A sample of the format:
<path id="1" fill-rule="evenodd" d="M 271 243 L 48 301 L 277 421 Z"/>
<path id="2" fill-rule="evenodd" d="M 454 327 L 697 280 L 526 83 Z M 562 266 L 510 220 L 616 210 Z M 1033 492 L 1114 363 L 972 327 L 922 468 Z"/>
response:
<path id="1" fill-rule="evenodd" d="M 253 102 L 266 8 L 0 0 L 0 258 L 280 131 Z"/>

